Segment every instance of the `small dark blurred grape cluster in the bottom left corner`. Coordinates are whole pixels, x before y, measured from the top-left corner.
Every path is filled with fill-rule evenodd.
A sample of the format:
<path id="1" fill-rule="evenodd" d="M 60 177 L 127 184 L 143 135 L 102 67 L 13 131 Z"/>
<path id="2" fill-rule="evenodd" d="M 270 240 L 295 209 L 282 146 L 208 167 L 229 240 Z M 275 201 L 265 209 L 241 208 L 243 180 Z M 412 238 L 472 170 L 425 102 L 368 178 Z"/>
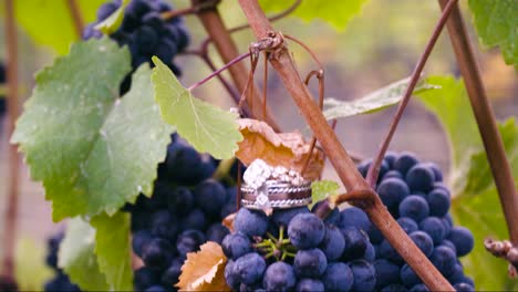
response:
<path id="1" fill-rule="evenodd" d="M 55 271 L 55 275 L 45 283 L 43 288 L 45 292 L 81 291 L 80 288 L 71 283 L 69 277 L 65 273 L 63 273 L 63 271 L 60 268 L 58 268 L 58 250 L 60 248 L 61 241 L 63 240 L 63 232 L 59 232 L 53 237 L 49 238 L 46 241 L 45 263 Z"/>

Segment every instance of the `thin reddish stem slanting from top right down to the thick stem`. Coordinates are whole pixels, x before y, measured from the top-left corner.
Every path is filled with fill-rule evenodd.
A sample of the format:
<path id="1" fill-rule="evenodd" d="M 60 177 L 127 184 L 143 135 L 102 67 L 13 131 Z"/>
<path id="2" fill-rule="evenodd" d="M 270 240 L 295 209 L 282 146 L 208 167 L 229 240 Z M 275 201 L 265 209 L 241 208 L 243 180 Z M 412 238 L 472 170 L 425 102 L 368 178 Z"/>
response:
<path id="1" fill-rule="evenodd" d="M 388 148 L 388 145 L 391 144 L 392 137 L 394 137 L 394 133 L 397 128 L 397 125 L 400 124 L 403 113 L 405 112 L 406 105 L 408 104 L 410 98 L 412 97 L 412 93 L 414 92 L 415 85 L 417 84 L 417 81 L 419 81 L 419 76 L 421 76 L 421 73 L 423 72 L 426 61 L 428 60 L 428 56 L 432 53 L 432 50 L 434 49 L 435 43 L 437 42 L 437 39 L 441 35 L 441 32 L 443 31 L 444 25 L 446 24 L 446 21 L 448 20 L 448 17 L 452 13 L 452 10 L 454 9 L 457 1 L 458 0 L 449 0 L 447 4 L 445 6 L 443 14 L 441 15 L 441 19 L 435 25 L 432 38 L 429 38 L 428 43 L 426 44 L 425 51 L 421 55 L 419 60 L 417 61 L 417 64 L 415 65 L 414 71 L 412 72 L 412 76 L 408 82 L 408 87 L 406 87 L 403 100 L 400 102 L 400 105 L 397 106 L 397 111 L 394 115 L 394 118 L 392 118 L 391 125 L 388 127 L 388 132 L 386 133 L 385 138 L 380 145 L 380 149 L 377 150 L 377 155 L 374 158 L 374 161 L 371 164 L 371 167 L 369 167 L 366 181 L 373 188 L 375 188 L 376 186 L 377 176 L 380 175 L 380 168 L 383 161 L 383 157 L 385 157 L 386 149 Z"/>

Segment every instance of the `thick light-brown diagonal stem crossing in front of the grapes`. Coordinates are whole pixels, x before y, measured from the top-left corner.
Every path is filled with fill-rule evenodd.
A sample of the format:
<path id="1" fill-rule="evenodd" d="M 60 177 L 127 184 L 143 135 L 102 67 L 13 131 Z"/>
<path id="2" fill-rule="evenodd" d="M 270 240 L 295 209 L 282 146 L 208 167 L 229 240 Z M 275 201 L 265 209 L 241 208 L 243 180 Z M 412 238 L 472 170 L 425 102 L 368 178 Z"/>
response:
<path id="1" fill-rule="evenodd" d="M 273 29 L 257 0 L 239 0 L 239 3 L 258 40 L 268 39 L 269 35 L 272 35 Z M 270 38 L 280 38 L 280 34 L 273 35 L 274 36 Z M 286 88 L 304 116 L 307 123 L 310 125 L 317 139 L 319 139 L 348 191 L 365 190 L 365 196 L 362 196 L 358 201 L 351 202 L 365 210 L 371 221 L 380 229 L 391 246 L 402 255 L 431 290 L 453 291 L 454 289 L 448 281 L 414 244 L 386 210 L 386 207 L 382 204 L 379 196 L 362 178 L 351 157 L 340 144 L 331 126 L 327 123 L 319 106 L 313 102 L 314 100 L 311 93 L 297 72 L 288 49 L 282 46 L 273 51 L 271 53 L 270 63 L 279 73 Z"/>

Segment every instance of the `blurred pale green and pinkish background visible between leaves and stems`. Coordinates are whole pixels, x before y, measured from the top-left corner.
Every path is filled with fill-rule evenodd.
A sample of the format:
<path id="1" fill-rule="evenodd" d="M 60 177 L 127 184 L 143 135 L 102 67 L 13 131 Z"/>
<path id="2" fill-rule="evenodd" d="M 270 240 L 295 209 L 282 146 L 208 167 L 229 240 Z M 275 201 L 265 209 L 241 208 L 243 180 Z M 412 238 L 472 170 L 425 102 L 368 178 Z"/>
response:
<path id="1" fill-rule="evenodd" d="M 21 1 L 39 2 L 39 0 Z M 80 3 L 89 1 L 82 0 Z M 170 2 L 177 8 L 185 8 L 189 3 L 185 0 Z M 466 22 L 469 24 L 472 40 L 476 44 L 483 79 L 497 117 L 504 119 L 507 116 L 517 115 L 518 82 L 516 71 L 512 66 L 504 63 L 498 50 L 484 51 L 480 48 L 473 25 L 470 25 L 472 15 L 466 8 L 466 2 L 460 1 L 460 3 Z M 246 22 L 237 1 L 224 0 L 219 10 L 229 28 Z M 439 8 L 435 0 L 371 0 L 363 8 L 362 13 L 355 17 L 344 31 L 335 31 L 323 21 L 304 22 L 293 17 L 277 21 L 274 27 L 286 34 L 300 39 L 317 53 L 325 69 L 327 97 L 353 100 L 408 76 L 423 52 L 438 17 Z M 52 15 L 45 14 L 34 21 L 44 23 L 45 19 L 49 18 Z M 93 18 L 94 14 L 89 17 L 89 19 Z M 193 36 L 190 48 L 195 49 L 206 38 L 206 33 L 195 15 L 187 17 L 186 23 Z M 65 25 L 70 25 L 70 23 L 65 23 Z M 0 60 L 6 60 L 3 21 L 0 22 Z M 60 33 L 63 32 L 55 30 L 52 33 L 55 34 L 55 38 L 60 38 Z M 248 44 L 255 40 L 249 30 L 238 32 L 232 36 L 241 52 L 246 52 Z M 301 74 L 317 69 L 300 46 L 294 43 L 289 45 L 293 51 Z M 214 48 L 210 48 L 210 52 L 217 66 L 222 65 Z M 30 95 L 34 72 L 51 64 L 55 55 L 56 52 L 52 48 L 38 44 L 23 28 L 19 28 L 20 88 L 23 100 Z M 196 56 L 180 55 L 177 60 L 184 71 L 182 81 L 186 85 L 194 84 L 210 73 L 210 70 Z M 261 86 L 263 83 L 261 65 L 257 72 L 256 84 Z M 446 33 L 443 33 L 434 49 L 425 67 L 425 74 L 459 74 Z M 313 92 L 317 93 L 315 84 L 312 87 Z M 286 131 L 305 129 L 307 126 L 297 107 L 274 73 L 270 74 L 268 88 L 268 103 L 282 128 Z M 196 94 L 225 108 L 234 106 L 231 98 L 216 79 L 197 88 Z M 372 115 L 340 121 L 336 133 L 346 149 L 363 157 L 371 157 L 376 152 L 393 113 L 394 108 L 390 108 Z M 7 189 L 3 186 L 9 177 L 7 176 L 9 173 L 7 166 L 8 135 L 4 131 L 4 118 L 2 123 L 0 131 L 0 186 L 2 186 L 0 188 L 0 226 L 3 226 L 3 208 L 6 206 Z M 445 171 L 449 166 L 446 137 L 435 116 L 425 111 L 417 102 L 411 102 L 391 144 L 391 149 L 414 152 L 423 160 L 436 161 Z M 329 166 L 325 168 L 324 178 L 336 179 L 333 169 Z M 20 198 L 18 236 L 23 239 L 18 252 L 19 258 L 22 259 L 20 267 L 23 269 L 20 270 L 20 273 L 27 275 L 29 283 L 34 283 L 33 289 L 38 289 L 38 283 L 45 274 L 37 272 L 40 270 L 34 267 L 43 265 L 41 257 L 43 257 L 44 240 L 62 228 L 62 223 L 52 222 L 51 206 L 44 200 L 43 189 L 40 184 L 30 180 L 25 166 L 22 166 Z M 3 232 L 0 232 L 0 251 L 2 250 L 2 237 Z"/>

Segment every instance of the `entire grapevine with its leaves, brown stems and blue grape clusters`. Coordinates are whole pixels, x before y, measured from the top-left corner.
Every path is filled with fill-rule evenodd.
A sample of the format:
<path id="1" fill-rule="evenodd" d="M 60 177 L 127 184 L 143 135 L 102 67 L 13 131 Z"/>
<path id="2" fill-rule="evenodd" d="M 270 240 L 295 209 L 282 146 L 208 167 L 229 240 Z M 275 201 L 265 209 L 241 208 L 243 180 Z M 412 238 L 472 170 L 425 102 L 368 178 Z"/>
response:
<path id="1" fill-rule="evenodd" d="M 279 3 L 239 0 L 234 6 L 247 23 L 234 29 L 222 21 L 232 10 L 221 10 L 226 3 L 217 0 L 193 0 L 185 8 L 166 0 L 68 0 L 50 7 L 46 1 L 35 10 L 49 14 L 56 8 L 56 20 L 65 13 L 70 22 L 54 27 L 58 39 L 49 34 L 56 20 L 35 29 L 19 12 L 33 7 L 6 2 L 7 69 L 0 82 L 6 77 L 7 97 L 0 97 L 0 118 L 7 112 L 11 146 L 0 290 L 516 289 L 509 279 L 518 274 L 518 125 L 512 117 L 495 118 L 458 0 L 438 0 L 441 15 L 407 79 L 354 101 L 325 98 L 330 73 L 313 41 L 271 22 L 288 15 L 312 20 L 319 11 L 344 28 L 367 0 L 297 0 L 271 17 L 265 11 L 280 11 Z M 498 45 L 516 67 L 516 3 L 469 0 L 467 9 L 480 41 Z M 191 15 L 208 34 L 197 49 L 191 46 L 198 31 L 186 21 Z M 23 111 L 17 23 L 62 54 L 35 74 Z M 445 28 L 466 85 L 423 73 Z M 245 53 L 234 41 L 242 30 L 257 39 Z M 293 44 L 318 65 L 305 79 Z M 198 67 L 183 65 L 180 55 L 199 56 L 213 72 L 185 85 Z M 319 98 L 312 96 L 313 76 Z M 214 77 L 234 107 L 207 102 L 220 102 L 219 93 L 197 96 L 203 91 L 196 88 Z M 301 134 L 302 125 L 282 131 L 270 108 L 273 98 L 280 103 L 269 94 L 272 80 L 284 85 L 311 132 Z M 448 173 L 414 153 L 388 150 L 413 96 L 444 126 Z M 372 156 L 360 161 L 336 135 L 338 118 L 393 105 L 397 109 L 377 152 L 359 155 Z M 27 270 L 17 250 L 17 150 L 41 182 L 52 219 L 66 221 L 48 238 L 45 259 L 38 261 L 46 265 L 46 280 L 37 286 L 20 275 Z M 322 179 L 325 160 L 340 184 Z M 481 263 L 487 271 L 477 269 Z"/>

